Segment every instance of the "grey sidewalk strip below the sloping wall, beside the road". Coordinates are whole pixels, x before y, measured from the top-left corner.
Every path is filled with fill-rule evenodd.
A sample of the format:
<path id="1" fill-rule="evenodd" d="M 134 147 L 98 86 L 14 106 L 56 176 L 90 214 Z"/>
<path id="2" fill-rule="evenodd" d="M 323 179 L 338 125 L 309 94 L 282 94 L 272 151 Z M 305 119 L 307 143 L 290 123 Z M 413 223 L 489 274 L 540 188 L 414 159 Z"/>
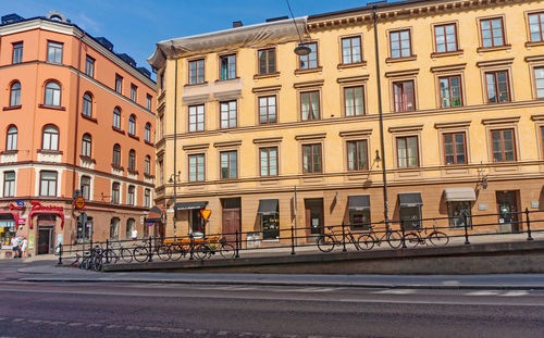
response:
<path id="1" fill-rule="evenodd" d="M 21 281 L 144 283 L 235 286 L 357 287 L 409 289 L 537 289 L 544 290 L 544 274 L 512 275 L 280 275 L 189 273 L 96 273 L 74 267 L 39 265 L 24 267 Z"/>

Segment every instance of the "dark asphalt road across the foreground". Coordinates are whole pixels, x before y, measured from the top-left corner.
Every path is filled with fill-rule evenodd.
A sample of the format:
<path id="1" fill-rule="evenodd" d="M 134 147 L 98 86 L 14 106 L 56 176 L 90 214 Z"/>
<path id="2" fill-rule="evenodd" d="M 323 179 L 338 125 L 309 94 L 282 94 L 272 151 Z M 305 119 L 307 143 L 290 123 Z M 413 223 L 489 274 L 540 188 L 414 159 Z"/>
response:
<path id="1" fill-rule="evenodd" d="M 0 337 L 542 337 L 544 292 L 0 280 Z"/>

